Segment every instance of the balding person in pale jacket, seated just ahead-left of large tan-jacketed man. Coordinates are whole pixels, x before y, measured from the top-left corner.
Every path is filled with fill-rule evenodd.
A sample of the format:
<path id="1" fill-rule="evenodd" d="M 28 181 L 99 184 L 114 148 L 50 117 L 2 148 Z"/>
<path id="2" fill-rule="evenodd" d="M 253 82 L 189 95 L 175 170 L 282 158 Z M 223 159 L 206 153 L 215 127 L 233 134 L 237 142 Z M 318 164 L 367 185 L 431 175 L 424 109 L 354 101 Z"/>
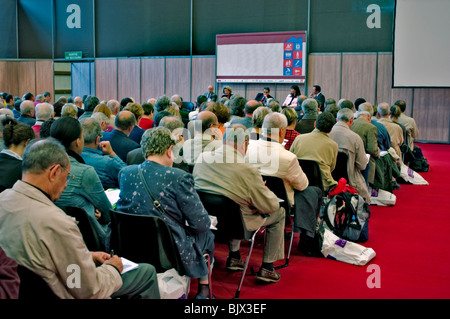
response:
<path id="1" fill-rule="evenodd" d="M 217 116 L 210 111 L 202 111 L 194 122 L 194 138 L 183 144 L 183 158 L 194 165 L 198 156 L 205 150 L 213 151 L 222 145 L 222 132 L 218 129 Z"/>

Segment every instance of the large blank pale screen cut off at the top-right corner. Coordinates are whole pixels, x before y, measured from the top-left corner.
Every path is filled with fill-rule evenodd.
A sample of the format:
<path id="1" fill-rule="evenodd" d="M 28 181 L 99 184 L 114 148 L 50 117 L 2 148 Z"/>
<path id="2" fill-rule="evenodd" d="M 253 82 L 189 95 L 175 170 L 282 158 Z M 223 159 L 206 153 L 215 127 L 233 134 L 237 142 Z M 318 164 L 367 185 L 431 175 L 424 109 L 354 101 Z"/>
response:
<path id="1" fill-rule="evenodd" d="M 393 87 L 450 87 L 450 1 L 397 0 Z"/>

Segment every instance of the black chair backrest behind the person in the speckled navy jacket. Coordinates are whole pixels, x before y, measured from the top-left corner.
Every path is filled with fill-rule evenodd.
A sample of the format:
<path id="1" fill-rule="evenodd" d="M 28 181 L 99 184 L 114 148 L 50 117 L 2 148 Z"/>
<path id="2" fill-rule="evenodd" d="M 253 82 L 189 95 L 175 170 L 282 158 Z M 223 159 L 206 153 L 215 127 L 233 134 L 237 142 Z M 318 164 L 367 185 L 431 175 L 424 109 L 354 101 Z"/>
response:
<path id="1" fill-rule="evenodd" d="M 110 211 L 111 248 L 114 253 L 136 263 L 152 264 L 158 273 L 185 269 L 172 231 L 160 217 Z"/>

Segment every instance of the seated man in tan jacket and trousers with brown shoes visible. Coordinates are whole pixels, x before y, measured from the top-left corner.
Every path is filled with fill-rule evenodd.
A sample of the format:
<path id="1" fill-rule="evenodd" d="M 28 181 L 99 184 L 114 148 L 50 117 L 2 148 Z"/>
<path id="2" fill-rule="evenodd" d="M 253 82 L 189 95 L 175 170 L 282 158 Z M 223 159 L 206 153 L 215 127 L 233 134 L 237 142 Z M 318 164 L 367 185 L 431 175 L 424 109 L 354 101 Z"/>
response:
<path id="1" fill-rule="evenodd" d="M 198 158 L 193 171 L 195 188 L 224 195 L 241 207 L 245 226 L 254 231 L 265 226 L 263 262 L 256 279 L 278 282 L 280 274 L 273 263 L 284 258 L 285 211 L 277 196 L 264 184 L 261 174 L 245 162 L 249 132 L 243 125 L 231 125 L 223 137 L 223 145 Z M 240 240 L 231 240 L 226 267 L 243 270 Z"/>

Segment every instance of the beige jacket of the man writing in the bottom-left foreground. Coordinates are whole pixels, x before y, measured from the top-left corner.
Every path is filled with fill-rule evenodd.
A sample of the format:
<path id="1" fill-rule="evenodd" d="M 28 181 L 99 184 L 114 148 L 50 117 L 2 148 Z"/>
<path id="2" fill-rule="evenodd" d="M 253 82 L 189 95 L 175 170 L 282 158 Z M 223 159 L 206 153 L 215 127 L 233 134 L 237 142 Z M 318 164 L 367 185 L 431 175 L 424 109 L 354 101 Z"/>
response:
<path id="1" fill-rule="evenodd" d="M 20 180 L 0 194 L 0 246 L 60 298 L 110 298 L 122 286 L 114 267 L 96 267 L 76 221 Z"/>

